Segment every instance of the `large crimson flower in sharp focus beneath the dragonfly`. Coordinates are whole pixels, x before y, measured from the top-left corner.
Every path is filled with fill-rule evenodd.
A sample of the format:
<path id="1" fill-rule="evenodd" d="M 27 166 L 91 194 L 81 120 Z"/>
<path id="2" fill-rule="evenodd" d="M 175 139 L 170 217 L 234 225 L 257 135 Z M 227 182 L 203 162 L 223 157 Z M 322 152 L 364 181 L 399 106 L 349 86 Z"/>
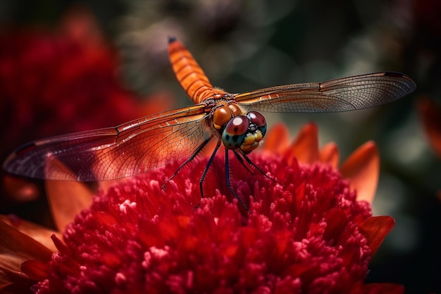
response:
<path id="1" fill-rule="evenodd" d="M 37 293 L 403 293 L 398 285 L 364 284 L 394 226 L 357 200 L 353 188 L 372 184 L 342 178 L 337 148 L 318 150 L 315 125 L 290 147 L 283 134 L 271 131 L 266 152 L 253 157 L 278 183 L 231 159 L 232 187 L 250 213 L 226 187 L 223 157 L 213 161 L 203 199 L 206 158 L 161 188 L 176 162 L 99 193 L 62 240 L 52 237 L 58 252 L 51 261 L 25 262 L 23 275 L 37 282 Z M 375 145 L 355 152 L 342 173 L 376 185 Z"/>

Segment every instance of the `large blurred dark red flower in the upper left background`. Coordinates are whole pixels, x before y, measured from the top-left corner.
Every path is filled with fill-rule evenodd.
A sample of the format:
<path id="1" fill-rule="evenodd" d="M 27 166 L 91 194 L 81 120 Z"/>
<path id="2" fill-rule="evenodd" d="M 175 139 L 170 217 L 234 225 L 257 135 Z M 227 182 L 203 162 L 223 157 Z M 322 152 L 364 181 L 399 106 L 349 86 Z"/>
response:
<path id="1" fill-rule="evenodd" d="M 70 11 L 56 30 L 1 32 L 0 161 L 31 140 L 118 125 L 170 107 L 166 95 L 157 97 L 162 103 L 142 102 L 123 85 L 118 68 L 116 51 L 84 9 Z M 12 178 L 4 185 L 18 186 Z M 30 197 L 28 188 L 12 197 Z"/>

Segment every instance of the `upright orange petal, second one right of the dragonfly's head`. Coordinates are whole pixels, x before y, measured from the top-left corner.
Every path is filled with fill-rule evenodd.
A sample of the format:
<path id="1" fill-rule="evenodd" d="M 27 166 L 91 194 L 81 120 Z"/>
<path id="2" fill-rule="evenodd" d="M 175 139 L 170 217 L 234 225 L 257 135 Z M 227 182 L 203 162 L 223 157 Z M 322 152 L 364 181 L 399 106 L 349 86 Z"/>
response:
<path id="1" fill-rule="evenodd" d="M 315 123 L 308 123 L 300 129 L 299 134 L 285 154 L 288 161 L 297 159 L 306 164 L 318 160 L 318 131 Z"/>

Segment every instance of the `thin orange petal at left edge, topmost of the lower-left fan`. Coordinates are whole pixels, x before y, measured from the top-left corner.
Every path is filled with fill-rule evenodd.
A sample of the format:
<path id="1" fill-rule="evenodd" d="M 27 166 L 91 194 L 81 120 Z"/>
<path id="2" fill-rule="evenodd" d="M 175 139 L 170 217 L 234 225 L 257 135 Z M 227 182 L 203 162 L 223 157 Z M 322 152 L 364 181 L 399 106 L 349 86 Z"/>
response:
<path id="1" fill-rule="evenodd" d="M 52 252 L 56 252 L 56 247 L 54 242 L 52 242 L 51 235 L 59 236 L 59 233 L 56 231 L 49 230 L 49 228 L 45 228 L 43 226 L 39 226 L 35 223 L 31 223 L 30 221 L 25 221 L 23 219 L 12 218 L 11 216 L 1 216 L 0 221 L 12 226 L 17 229 L 21 233 L 30 236 L 30 238 L 36 240 L 38 243 L 46 246 Z"/>

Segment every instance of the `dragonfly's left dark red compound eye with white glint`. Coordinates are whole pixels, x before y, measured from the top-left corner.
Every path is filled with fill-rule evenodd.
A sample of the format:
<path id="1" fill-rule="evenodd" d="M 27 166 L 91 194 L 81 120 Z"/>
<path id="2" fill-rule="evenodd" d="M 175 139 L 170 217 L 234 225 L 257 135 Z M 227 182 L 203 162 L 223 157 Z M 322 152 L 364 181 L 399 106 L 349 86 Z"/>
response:
<path id="1" fill-rule="evenodd" d="M 222 133 L 222 142 L 227 149 L 237 149 L 242 145 L 249 129 L 247 116 L 235 116 L 228 121 Z"/>

